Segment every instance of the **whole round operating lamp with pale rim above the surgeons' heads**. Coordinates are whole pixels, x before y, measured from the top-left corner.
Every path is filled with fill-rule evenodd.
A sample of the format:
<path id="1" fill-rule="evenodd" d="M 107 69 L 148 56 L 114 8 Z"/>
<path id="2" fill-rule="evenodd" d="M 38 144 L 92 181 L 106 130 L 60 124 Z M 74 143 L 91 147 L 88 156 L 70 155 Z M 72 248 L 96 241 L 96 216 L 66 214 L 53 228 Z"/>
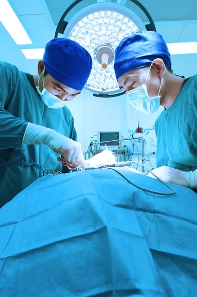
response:
<path id="1" fill-rule="evenodd" d="M 121 95 L 114 71 L 115 50 L 120 41 L 132 32 L 147 30 L 142 20 L 130 9 L 111 2 L 87 6 L 69 23 L 64 18 L 65 15 L 58 23 L 55 38 L 58 33 L 63 34 L 64 38 L 72 39 L 87 49 L 92 57 L 92 71 L 85 88 L 98 93 L 94 96 L 99 97 Z"/>

